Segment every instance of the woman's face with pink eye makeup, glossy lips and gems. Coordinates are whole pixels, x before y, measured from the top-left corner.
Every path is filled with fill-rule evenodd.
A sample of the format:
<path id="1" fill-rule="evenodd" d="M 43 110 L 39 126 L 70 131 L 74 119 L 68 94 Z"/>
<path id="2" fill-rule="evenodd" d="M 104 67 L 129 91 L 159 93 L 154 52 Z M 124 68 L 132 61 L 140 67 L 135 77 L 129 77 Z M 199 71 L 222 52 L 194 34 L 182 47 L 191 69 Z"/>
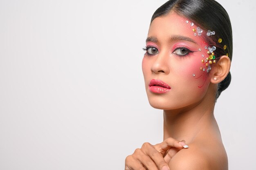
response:
<path id="1" fill-rule="evenodd" d="M 197 26 L 176 13 L 151 23 L 142 71 L 152 107 L 174 110 L 193 107 L 204 99 L 210 83 L 207 63 L 202 62 L 209 57 L 208 44 L 193 29 Z"/>

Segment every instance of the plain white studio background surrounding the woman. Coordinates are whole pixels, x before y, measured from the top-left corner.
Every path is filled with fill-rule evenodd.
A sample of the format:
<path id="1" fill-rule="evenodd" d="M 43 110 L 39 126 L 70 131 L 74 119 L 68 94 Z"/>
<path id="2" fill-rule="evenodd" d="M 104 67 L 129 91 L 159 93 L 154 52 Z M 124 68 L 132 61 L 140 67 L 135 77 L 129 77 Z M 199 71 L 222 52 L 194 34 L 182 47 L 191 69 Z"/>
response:
<path id="1" fill-rule="evenodd" d="M 141 61 L 164 2 L 0 0 L 1 170 L 122 170 L 144 142 L 162 141 L 162 110 L 148 104 Z M 253 170 L 256 1 L 218 2 L 234 53 L 215 115 L 229 169 Z"/>

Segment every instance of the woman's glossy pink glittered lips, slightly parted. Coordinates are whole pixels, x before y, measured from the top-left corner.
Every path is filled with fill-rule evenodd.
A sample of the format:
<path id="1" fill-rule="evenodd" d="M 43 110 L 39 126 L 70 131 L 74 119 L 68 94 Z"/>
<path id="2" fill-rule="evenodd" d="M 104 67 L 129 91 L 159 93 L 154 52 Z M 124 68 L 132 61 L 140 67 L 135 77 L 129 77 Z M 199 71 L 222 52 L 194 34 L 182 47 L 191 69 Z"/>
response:
<path id="1" fill-rule="evenodd" d="M 152 79 L 148 88 L 153 93 L 167 93 L 168 91 L 171 91 L 171 87 L 159 79 Z"/>

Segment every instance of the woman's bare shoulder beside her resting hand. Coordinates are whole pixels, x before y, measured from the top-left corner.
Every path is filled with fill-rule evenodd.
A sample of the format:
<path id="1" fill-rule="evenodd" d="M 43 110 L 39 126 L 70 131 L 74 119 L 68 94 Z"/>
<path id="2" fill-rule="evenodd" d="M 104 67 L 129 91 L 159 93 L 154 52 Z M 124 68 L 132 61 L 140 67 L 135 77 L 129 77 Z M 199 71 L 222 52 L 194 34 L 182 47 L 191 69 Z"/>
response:
<path id="1" fill-rule="evenodd" d="M 189 144 L 169 162 L 170 170 L 228 170 L 227 154 L 222 144 Z"/>

